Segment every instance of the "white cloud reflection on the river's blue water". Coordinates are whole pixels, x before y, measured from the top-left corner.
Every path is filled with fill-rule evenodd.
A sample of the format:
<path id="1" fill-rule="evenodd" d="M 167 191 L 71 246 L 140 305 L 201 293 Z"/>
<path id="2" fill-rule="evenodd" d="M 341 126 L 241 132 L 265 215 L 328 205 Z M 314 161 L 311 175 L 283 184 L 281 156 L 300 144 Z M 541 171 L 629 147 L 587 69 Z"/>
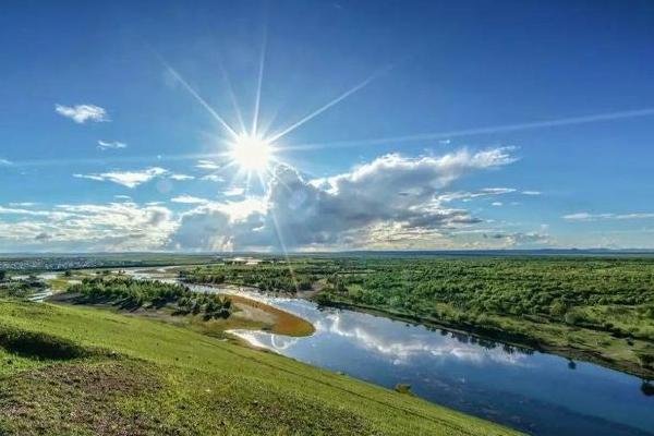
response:
<path id="1" fill-rule="evenodd" d="M 306 338 L 246 330 L 237 330 L 233 334 L 255 347 L 284 355 L 310 353 L 319 360 L 322 353 L 338 347 L 346 350 L 344 355 L 351 355 L 358 350 L 365 352 L 365 359 L 380 359 L 393 365 L 409 365 L 426 359 L 434 363 L 455 360 L 475 365 L 494 363 L 528 366 L 526 355 L 513 348 L 468 335 L 429 330 L 350 311 L 318 311 L 313 303 L 305 301 L 271 298 L 265 300 L 268 304 L 311 320 L 316 332 Z"/>

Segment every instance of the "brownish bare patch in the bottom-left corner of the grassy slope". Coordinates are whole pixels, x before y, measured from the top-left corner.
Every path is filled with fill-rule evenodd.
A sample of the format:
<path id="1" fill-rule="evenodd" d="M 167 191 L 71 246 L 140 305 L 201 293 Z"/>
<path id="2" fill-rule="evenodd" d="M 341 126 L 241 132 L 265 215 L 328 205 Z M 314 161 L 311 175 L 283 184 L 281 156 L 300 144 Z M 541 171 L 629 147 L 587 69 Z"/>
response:
<path id="1" fill-rule="evenodd" d="M 161 386 L 145 364 L 55 364 L 0 379 L 0 434 L 143 435 L 149 415 L 126 412 L 121 399 Z"/>

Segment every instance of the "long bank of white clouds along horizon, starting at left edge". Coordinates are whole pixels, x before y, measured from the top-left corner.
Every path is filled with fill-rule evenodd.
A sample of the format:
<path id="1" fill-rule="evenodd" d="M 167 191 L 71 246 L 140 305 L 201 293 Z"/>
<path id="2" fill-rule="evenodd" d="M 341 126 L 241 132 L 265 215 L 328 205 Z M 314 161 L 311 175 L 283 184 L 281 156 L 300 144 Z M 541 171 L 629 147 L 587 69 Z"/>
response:
<path id="1" fill-rule="evenodd" d="M 443 156 L 390 154 L 348 172 L 313 180 L 279 165 L 264 195 L 247 195 L 239 187 L 225 191 L 226 199 L 220 202 L 173 196 L 171 203 L 190 206 L 178 213 L 161 203 L 136 204 L 128 196 L 104 205 L 49 209 L 0 206 L 0 244 L 39 244 L 41 250 L 184 251 L 434 249 L 472 246 L 480 241 L 485 246 L 538 244 L 546 238 L 537 233 L 487 232 L 501 233 L 501 238 L 457 234 L 477 229 L 483 220 L 450 202 L 517 192 L 513 187 L 461 192 L 458 182 L 513 161 L 510 148 L 461 149 Z M 75 174 L 128 187 L 155 178 L 167 182 L 172 175 L 158 167 Z M 465 238 L 463 242 L 461 238 Z"/>

